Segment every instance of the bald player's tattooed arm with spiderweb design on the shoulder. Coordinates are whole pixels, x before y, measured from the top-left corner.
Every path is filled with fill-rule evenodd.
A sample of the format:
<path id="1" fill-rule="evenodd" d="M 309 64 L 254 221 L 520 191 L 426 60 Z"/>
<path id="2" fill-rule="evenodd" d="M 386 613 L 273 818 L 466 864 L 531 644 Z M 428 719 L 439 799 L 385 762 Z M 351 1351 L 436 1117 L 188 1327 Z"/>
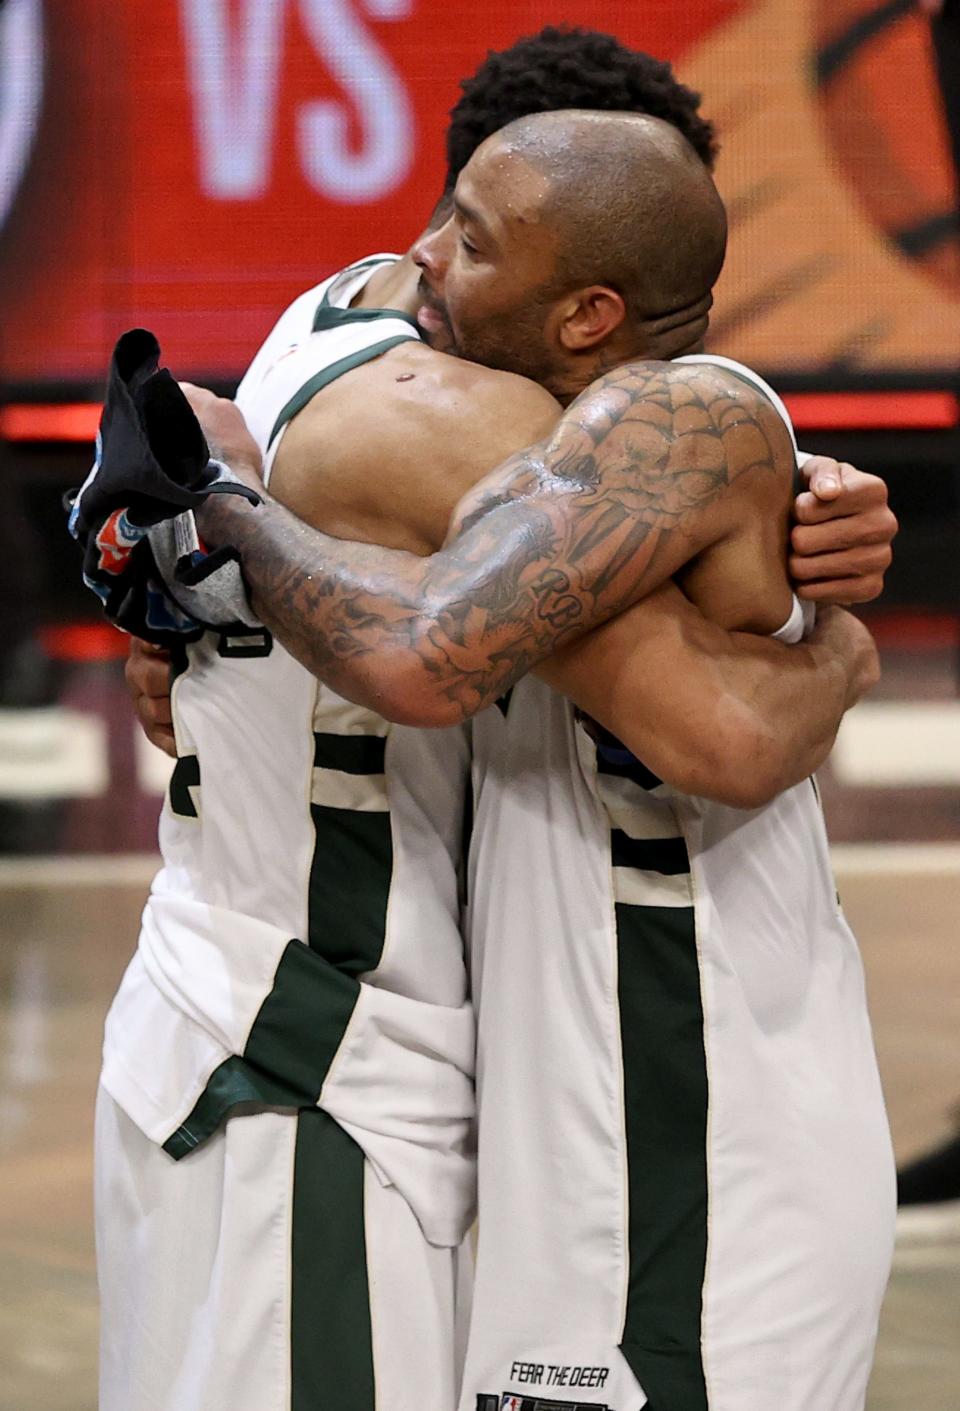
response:
<path id="1" fill-rule="evenodd" d="M 270 497 L 210 497 L 200 532 L 240 550 L 264 622 L 329 686 L 392 720 L 452 724 L 726 532 L 734 481 L 792 473 L 785 440 L 726 370 L 631 365 L 488 476 L 431 557 L 322 535 Z"/>

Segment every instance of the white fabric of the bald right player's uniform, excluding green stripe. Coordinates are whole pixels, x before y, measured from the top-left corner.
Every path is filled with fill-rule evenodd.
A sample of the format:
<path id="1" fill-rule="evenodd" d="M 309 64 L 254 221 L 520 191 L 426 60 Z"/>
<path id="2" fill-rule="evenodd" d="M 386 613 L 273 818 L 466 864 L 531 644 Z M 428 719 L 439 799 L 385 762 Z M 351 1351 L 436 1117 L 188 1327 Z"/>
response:
<path id="1" fill-rule="evenodd" d="M 594 746 L 535 680 L 474 735 L 480 1245 L 460 1411 L 479 1393 L 520 1394 L 514 1362 L 607 1367 L 607 1404 L 638 1411 L 642 1390 L 618 1352 L 628 1168 L 611 820 Z M 813 786 L 751 813 L 665 787 L 638 794 L 661 814 L 649 835 L 686 838 L 696 897 L 710 1408 L 861 1411 L 894 1173 L 860 957 Z"/>

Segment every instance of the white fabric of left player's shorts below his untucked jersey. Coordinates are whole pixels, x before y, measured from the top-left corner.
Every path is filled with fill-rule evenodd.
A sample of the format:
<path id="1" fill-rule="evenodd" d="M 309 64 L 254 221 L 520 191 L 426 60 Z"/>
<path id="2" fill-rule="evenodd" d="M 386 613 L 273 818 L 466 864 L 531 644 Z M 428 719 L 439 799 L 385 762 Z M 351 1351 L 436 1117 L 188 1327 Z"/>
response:
<path id="1" fill-rule="evenodd" d="M 291 1411 L 295 1140 L 261 1112 L 174 1163 L 100 1089 L 100 1411 Z M 363 1181 L 377 1405 L 421 1411 L 429 1387 L 452 1407 L 470 1250 L 428 1245 L 368 1163 Z"/>

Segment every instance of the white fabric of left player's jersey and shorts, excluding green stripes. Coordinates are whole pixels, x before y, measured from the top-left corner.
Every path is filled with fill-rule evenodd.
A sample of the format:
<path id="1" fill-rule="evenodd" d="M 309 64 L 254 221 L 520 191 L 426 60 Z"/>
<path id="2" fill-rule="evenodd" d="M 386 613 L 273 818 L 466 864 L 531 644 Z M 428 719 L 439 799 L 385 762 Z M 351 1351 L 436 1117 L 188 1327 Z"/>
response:
<path id="1" fill-rule="evenodd" d="M 335 302 L 368 272 L 336 282 Z M 292 382 L 392 332 L 373 322 L 313 334 L 322 292 L 295 301 L 244 378 L 241 406 L 263 449 Z M 291 344 L 298 351 L 284 358 Z M 284 948 L 308 938 L 312 800 L 366 817 L 374 803 L 390 809 L 383 954 L 360 976 L 320 1106 L 367 1154 L 378 1404 L 414 1411 L 428 1388 L 452 1405 L 463 1339 L 448 1273 L 476 1184 L 457 879 L 466 732 L 394 728 L 320 687 L 278 643 L 264 656 L 223 655 L 233 646 L 206 634 L 174 683 L 178 753 L 198 759 L 196 817 L 167 800 L 164 869 L 106 1024 L 102 1408 L 287 1411 L 288 1264 L 271 1240 L 284 1237 L 295 1119 L 237 1113 L 181 1161 L 160 1143 L 219 1064 L 243 1053 Z M 383 738 L 383 776 L 316 770 L 315 732 Z"/>

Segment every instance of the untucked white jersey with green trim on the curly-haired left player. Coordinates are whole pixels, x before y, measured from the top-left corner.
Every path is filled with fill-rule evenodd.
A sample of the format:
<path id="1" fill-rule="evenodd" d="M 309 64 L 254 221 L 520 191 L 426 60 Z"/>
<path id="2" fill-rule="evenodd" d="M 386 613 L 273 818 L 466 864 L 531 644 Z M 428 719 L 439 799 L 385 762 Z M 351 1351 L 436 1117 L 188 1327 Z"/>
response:
<path id="1" fill-rule="evenodd" d="M 267 464 L 322 387 L 416 337 L 401 313 L 349 308 L 384 258 L 296 299 L 254 358 L 239 404 Z M 107 1091 L 174 1156 L 239 1102 L 318 1102 L 428 1237 L 459 1243 L 473 1209 L 466 731 L 391 725 L 265 631 L 192 643 L 172 710 L 164 869 L 107 1023 Z"/>

